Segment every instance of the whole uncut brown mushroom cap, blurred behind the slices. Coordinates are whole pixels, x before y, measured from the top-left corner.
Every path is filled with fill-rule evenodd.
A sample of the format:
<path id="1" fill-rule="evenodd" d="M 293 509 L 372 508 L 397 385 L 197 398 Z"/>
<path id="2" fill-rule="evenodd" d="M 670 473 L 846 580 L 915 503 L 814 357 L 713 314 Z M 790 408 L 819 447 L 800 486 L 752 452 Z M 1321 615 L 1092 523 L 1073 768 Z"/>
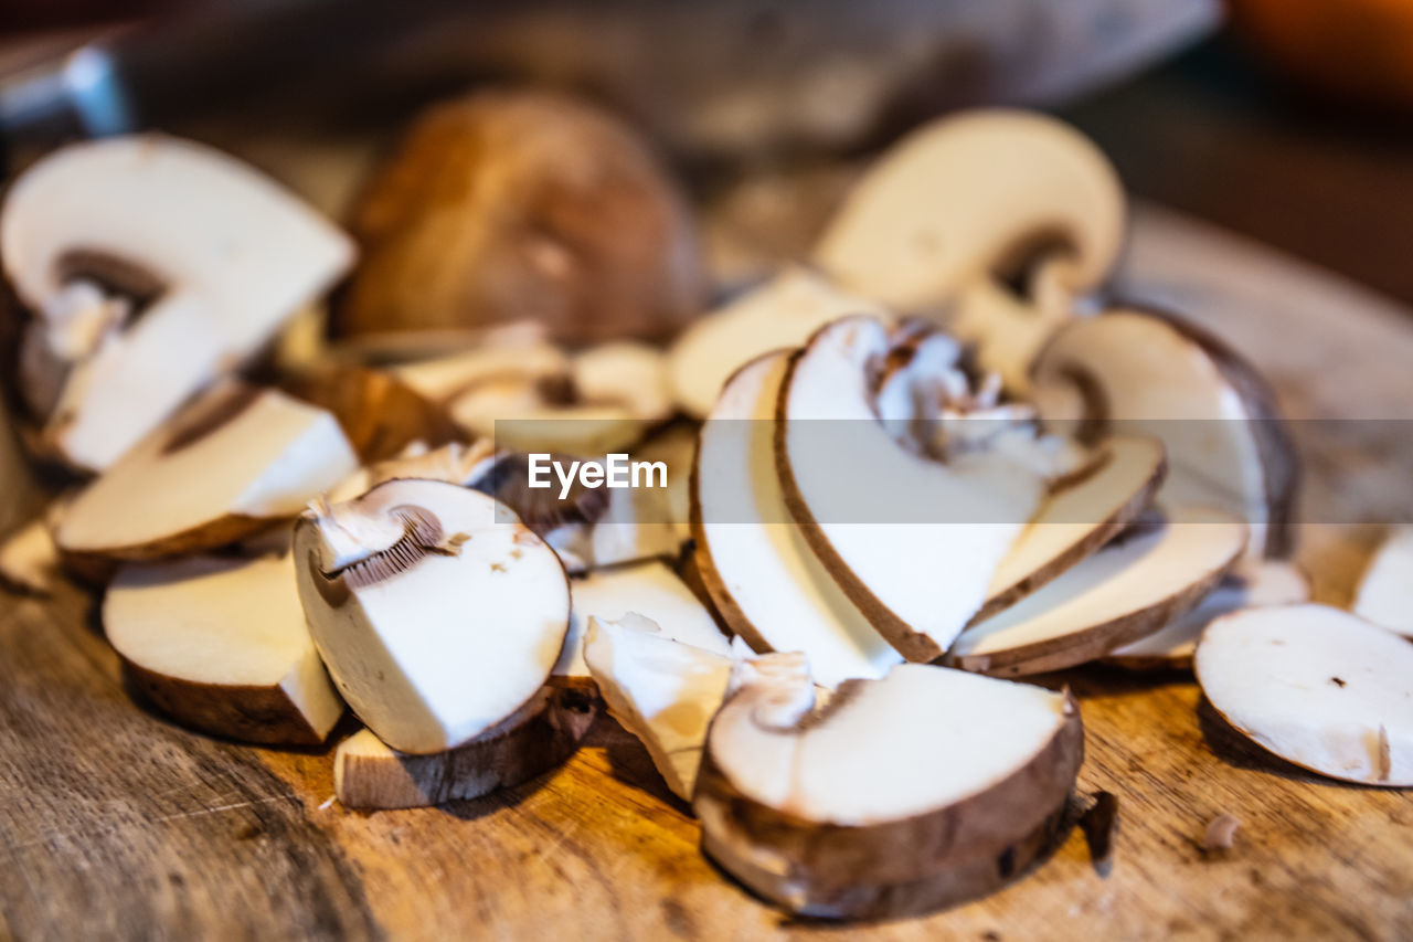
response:
<path id="1" fill-rule="evenodd" d="M 431 107 L 349 226 L 335 337 L 537 318 L 569 344 L 663 339 L 702 300 L 687 201 L 629 127 L 555 95 Z"/>

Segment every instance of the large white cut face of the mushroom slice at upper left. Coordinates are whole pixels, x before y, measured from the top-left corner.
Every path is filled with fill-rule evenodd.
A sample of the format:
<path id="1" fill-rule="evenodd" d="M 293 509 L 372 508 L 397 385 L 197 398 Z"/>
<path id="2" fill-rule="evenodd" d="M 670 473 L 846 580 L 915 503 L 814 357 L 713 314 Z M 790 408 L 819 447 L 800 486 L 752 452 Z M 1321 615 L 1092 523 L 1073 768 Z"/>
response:
<path id="1" fill-rule="evenodd" d="M 45 417 L 58 455 L 97 471 L 263 347 L 353 248 L 232 157 L 148 134 L 72 144 L 23 174 L 0 212 L 0 257 L 41 321 L 81 277 L 153 297 L 71 361 Z"/>

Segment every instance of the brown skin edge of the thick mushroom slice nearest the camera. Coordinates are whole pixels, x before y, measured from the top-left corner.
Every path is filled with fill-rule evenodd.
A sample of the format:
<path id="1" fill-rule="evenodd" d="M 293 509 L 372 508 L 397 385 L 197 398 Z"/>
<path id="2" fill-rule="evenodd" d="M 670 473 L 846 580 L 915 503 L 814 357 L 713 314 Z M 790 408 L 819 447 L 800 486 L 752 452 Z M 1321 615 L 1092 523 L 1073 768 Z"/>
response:
<path id="1" fill-rule="evenodd" d="M 831 704 L 848 687 L 841 685 Z M 736 791 L 711 748 L 702 752 L 692 810 L 702 850 L 777 905 L 828 918 L 913 915 L 985 895 L 1043 857 L 1082 761 L 1080 707 L 1065 693 L 1065 721 L 1030 762 L 926 815 L 868 826 L 801 820 Z M 749 863 L 762 857 L 788 866 L 777 873 Z"/>

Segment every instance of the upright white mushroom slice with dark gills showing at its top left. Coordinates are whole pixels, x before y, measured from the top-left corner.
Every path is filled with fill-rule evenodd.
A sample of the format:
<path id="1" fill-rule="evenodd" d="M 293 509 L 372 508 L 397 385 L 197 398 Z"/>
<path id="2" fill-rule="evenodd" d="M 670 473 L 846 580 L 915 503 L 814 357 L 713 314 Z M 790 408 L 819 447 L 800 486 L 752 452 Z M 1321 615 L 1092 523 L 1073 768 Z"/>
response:
<path id="1" fill-rule="evenodd" d="M 444 481 L 398 479 L 295 525 L 300 600 L 329 675 L 389 747 L 480 735 L 544 686 L 569 586 L 509 508 Z"/>

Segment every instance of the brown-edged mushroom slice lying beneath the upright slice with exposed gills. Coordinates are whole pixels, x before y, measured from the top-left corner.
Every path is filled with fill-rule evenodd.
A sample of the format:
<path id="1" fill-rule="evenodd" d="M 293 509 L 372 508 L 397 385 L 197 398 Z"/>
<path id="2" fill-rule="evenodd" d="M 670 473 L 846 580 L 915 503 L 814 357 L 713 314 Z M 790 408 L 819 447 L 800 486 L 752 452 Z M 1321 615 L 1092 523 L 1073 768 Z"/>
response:
<path id="1" fill-rule="evenodd" d="M 579 690 L 543 687 L 476 738 L 410 755 L 359 730 L 333 752 L 333 793 L 345 808 L 427 808 L 480 798 L 543 775 L 574 755 L 599 714 Z"/>

